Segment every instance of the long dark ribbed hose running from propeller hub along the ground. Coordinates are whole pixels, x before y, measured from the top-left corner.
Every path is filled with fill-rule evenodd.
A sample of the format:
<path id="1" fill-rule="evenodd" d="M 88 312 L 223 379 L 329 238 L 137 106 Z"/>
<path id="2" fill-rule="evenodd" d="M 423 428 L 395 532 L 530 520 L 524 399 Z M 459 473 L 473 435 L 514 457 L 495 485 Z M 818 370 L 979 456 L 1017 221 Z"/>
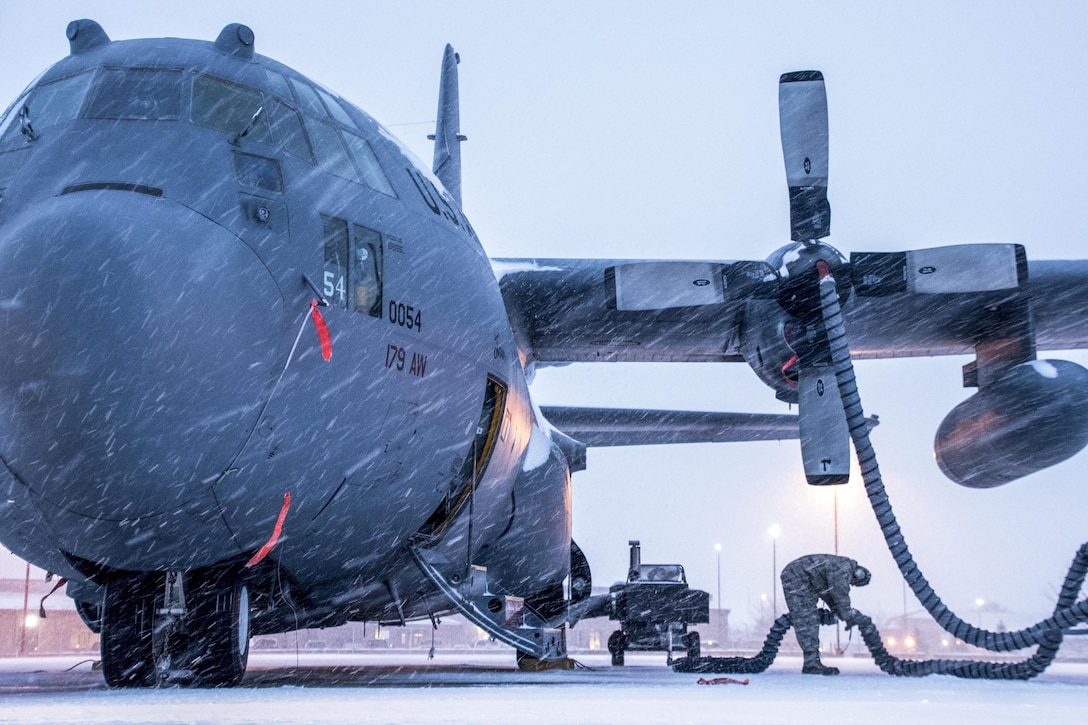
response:
<path id="1" fill-rule="evenodd" d="M 903 532 L 895 521 L 895 515 L 888 500 L 880 467 L 877 464 L 876 452 L 869 441 L 868 426 L 862 409 L 862 400 L 857 392 L 857 380 L 854 377 L 854 366 L 850 358 L 850 347 L 846 344 L 846 331 L 843 324 L 842 309 L 839 305 L 839 294 L 834 278 L 827 265 L 817 262 L 820 291 L 820 310 L 827 330 L 828 345 L 831 354 L 831 365 L 834 369 L 839 394 L 842 397 L 846 414 L 846 425 L 854 442 L 854 451 L 862 470 L 862 481 L 865 493 L 877 517 L 877 524 L 888 544 L 892 558 L 900 573 L 910 585 L 911 590 L 922 602 L 922 605 L 934 617 L 944 631 L 974 647 L 993 652 L 1022 650 L 1038 647 L 1036 653 L 1021 662 L 976 662 L 961 660 L 901 660 L 891 655 L 883 647 L 880 632 L 873 620 L 858 613 L 848 625 L 856 625 L 865 646 L 881 671 L 889 675 L 903 677 L 923 677 L 926 675 L 953 675 L 965 678 L 982 679 L 1030 679 L 1042 673 L 1058 654 L 1062 644 L 1062 630 L 1073 625 L 1088 620 L 1088 600 L 1076 601 L 1088 574 L 1088 543 L 1077 550 L 1073 557 L 1061 593 L 1054 606 L 1053 615 L 1030 627 L 1011 632 L 994 632 L 975 627 L 955 615 L 941 601 L 937 592 L 929 586 L 922 570 L 914 562 L 911 550 L 906 545 Z M 721 672 L 721 673 L 759 673 L 774 661 L 781 644 L 782 637 L 790 627 L 789 615 L 782 615 L 771 626 L 763 650 L 754 658 L 698 658 L 696 660 L 679 660 L 673 665 L 676 672 Z"/>

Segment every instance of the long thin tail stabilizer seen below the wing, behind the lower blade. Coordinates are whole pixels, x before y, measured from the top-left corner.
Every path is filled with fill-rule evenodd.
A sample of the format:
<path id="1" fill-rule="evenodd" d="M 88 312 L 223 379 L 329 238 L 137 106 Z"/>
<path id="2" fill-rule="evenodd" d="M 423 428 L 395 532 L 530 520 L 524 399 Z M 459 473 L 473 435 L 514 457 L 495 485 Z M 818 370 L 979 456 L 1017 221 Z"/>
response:
<path id="1" fill-rule="evenodd" d="M 800 438 L 793 415 L 571 407 L 542 407 L 541 413 L 589 447 Z"/>

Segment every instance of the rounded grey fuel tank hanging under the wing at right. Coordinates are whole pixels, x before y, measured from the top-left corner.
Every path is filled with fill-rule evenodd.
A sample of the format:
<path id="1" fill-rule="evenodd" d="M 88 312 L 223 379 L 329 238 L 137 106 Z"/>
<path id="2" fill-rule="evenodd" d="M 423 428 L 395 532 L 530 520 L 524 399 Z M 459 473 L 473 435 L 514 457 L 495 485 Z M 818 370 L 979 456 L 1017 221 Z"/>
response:
<path id="1" fill-rule="evenodd" d="M 973 489 L 1014 481 L 1088 445 L 1088 370 L 1067 360 L 1012 368 L 941 421 L 934 456 L 950 479 Z"/>

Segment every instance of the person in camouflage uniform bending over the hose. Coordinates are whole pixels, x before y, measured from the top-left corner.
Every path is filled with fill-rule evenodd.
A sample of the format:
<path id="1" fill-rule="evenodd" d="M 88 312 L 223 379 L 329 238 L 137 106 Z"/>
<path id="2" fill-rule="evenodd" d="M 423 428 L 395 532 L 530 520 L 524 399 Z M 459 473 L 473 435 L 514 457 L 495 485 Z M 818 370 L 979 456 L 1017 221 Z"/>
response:
<path id="1" fill-rule="evenodd" d="M 864 576 L 862 576 L 864 573 Z M 782 569 L 782 594 L 790 607 L 790 622 L 804 653 L 805 674 L 838 675 L 834 667 L 825 667 L 819 660 L 820 600 L 840 619 L 849 622 L 856 612 L 850 606 L 850 586 L 868 583 L 869 573 L 857 562 L 832 554 L 809 554 L 796 558 Z"/>

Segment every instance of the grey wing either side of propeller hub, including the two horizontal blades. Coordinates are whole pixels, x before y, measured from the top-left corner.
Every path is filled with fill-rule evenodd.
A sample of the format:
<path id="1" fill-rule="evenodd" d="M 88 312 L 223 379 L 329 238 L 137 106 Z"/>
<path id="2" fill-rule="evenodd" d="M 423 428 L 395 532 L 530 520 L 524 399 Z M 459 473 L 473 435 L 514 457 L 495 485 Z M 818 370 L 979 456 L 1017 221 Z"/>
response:
<path id="1" fill-rule="evenodd" d="M 937 260 L 955 273 L 936 285 L 911 279 Z M 493 267 L 527 364 L 758 368 L 761 353 L 781 342 L 786 315 L 767 262 L 495 259 Z M 848 269 L 855 359 L 969 355 L 1011 336 L 1029 336 L 1040 349 L 1088 347 L 1086 260 L 1028 263 L 1018 245 L 962 245 L 855 254 Z"/>

